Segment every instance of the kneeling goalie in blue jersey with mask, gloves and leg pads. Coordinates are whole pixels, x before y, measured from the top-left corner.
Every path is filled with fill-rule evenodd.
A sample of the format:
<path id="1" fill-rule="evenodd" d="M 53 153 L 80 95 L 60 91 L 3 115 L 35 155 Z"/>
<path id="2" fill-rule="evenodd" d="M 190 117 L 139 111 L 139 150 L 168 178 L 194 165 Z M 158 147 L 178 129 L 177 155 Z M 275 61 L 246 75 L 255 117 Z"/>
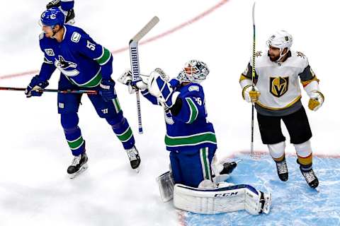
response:
<path id="1" fill-rule="evenodd" d="M 174 198 L 174 206 L 193 213 L 244 209 L 254 215 L 268 213 L 270 194 L 263 194 L 246 184 L 222 182 L 235 165 L 212 164 L 217 140 L 214 127 L 207 120 L 205 95 L 200 85 L 208 73 L 205 63 L 191 60 L 171 81 L 162 69 L 141 76 L 142 80 L 135 85 L 132 85 L 130 71 L 118 78 L 129 86 L 130 93 L 140 89 L 152 104 L 164 108 L 165 144 L 166 150 L 170 151 L 171 171 L 158 178 L 162 199 Z"/>

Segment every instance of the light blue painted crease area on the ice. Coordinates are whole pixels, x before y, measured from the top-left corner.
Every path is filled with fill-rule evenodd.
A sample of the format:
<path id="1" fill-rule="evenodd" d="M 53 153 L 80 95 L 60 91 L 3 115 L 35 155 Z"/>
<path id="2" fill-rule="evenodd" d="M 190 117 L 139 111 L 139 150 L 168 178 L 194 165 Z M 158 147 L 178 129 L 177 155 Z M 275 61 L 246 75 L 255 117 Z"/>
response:
<path id="1" fill-rule="evenodd" d="M 289 179 L 281 182 L 276 166 L 269 155 L 253 159 L 237 154 L 242 159 L 227 182 L 251 184 L 273 195 L 269 215 L 249 215 L 245 210 L 219 215 L 184 213 L 187 226 L 194 225 L 340 225 L 339 158 L 315 157 L 314 172 L 319 178 L 317 190 L 311 189 L 302 177 L 296 156 L 287 157 Z"/>

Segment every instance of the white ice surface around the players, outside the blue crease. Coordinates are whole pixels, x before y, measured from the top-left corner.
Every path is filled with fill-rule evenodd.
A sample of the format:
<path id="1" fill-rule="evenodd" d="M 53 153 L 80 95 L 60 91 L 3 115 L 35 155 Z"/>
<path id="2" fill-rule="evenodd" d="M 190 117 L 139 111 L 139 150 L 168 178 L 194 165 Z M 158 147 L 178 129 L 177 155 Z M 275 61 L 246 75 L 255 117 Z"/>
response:
<path id="1" fill-rule="evenodd" d="M 220 0 L 76 0 L 76 25 L 108 49 L 128 45 L 152 16 L 159 24 L 147 37 L 184 23 Z M 209 119 L 215 126 L 218 157 L 249 150 L 251 106 L 242 100 L 239 74 L 252 47 L 253 1 L 227 1 L 196 23 L 140 46 L 142 73 L 160 67 L 176 76 L 184 62 L 200 59 L 210 67 L 203 83 Z M 40 69 L 38 19 L 47 1 L 1 1 L 0 76 Z M 325 102 L 307 110 L 314 153 L 339 155 L 339 1 L 263 0 L 256 4 L 256 49 L 264 49 L 271 32 L 293 34 L 293 49 L 307 55 L 320 79 Z M 130 66 L 128 52 L 115 54 L 113 78 Z M 30 78 L 0 80 L 1 86 L 26 87 Z M 57 88 L 59 75 L 50 80 Z M 45 93 L 26 99 L 23 92 L 0 91 L 0 225 L 181 225 L 181 213 L 162 203 L 155 178 L 169 167 L 164 146 L 162 109 L 142 100 L 145 133 L 137 134 L 135 95 L 123 85 L 116 90 L 135 133 L 142 169 L 130 169 L 128 157 L 106 121 L 99 119 L 87 97 L 79 117 L 86 139 L 89 169 L 68 179 L 72 160 L 57 114 L 57 97 Z M 302 91 L 303 92 L 303 91 Z M 306 105 L 307 95 L 302 102 Z M 255 124 L 255 149 L 261 144 Z M 286 137 L 287 131 L 284 129 Z M 293 153 L 293 145 L 287 152 Z M 249 169 L 249 173 L 251 169 Z"/>

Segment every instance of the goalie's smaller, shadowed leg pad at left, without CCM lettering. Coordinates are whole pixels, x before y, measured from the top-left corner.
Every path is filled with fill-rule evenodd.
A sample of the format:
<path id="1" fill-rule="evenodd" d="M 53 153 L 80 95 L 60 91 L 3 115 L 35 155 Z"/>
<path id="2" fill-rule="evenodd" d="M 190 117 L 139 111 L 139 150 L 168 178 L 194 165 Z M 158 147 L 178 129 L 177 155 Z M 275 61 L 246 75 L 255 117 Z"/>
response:
<path id="1" fill-rule="evenodd" d="M 157 177 L 159 186 L 159 194 L 161 194 L 162 201 L 170 201 L 174 197 L 174 178 L 171 172 L 165 172 L 164 174 Z"/>

